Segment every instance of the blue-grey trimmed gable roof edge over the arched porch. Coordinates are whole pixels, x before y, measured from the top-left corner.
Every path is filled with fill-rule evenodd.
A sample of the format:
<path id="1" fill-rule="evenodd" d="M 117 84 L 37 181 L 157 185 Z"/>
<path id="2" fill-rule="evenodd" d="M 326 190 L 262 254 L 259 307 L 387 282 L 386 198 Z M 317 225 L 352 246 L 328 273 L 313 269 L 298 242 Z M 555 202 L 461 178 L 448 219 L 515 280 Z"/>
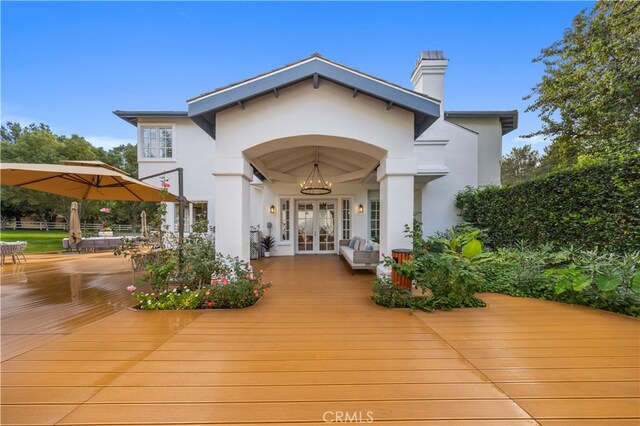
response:
<path id="1" fill-rule="evenodd" d="M 215 138 L 218 112 L 269 93 L 277 96 L 279 89 L 303 80 L 313 79 L 317 87 L 320 78 L 353 89 L 354 94 L 378 98 L 387 102 L 389 107 L 397 106 L 413 112 L 415 137 L 440 116 L 440 102 L 436 99 L 313 54 L 282 68 L 187 100 L 189 118 Z"/>

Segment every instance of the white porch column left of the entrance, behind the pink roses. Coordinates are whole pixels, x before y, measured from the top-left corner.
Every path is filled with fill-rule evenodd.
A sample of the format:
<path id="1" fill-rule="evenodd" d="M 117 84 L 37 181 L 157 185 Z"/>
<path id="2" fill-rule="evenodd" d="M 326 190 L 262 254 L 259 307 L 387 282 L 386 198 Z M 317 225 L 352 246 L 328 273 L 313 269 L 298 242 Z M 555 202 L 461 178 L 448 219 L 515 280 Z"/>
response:
<path id="1" fill-rule="evenodd" d="M 216 251 L 250 259 L 249 182 L 253 174 L 245 158 L 216 158 Z"/>

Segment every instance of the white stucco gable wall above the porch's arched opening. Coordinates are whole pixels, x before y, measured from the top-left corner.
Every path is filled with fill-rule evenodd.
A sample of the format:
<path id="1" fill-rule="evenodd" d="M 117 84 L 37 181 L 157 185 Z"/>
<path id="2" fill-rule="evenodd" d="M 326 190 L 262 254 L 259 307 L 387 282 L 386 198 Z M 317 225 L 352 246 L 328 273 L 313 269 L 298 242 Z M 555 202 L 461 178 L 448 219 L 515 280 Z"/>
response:
<path id="1" fill-rule="evenodd" d="M 265 95 L 247 102 L 244 110 L 234 107 L 222 111 L 216 119 L 218 155 L 237 157 L 248 148 L 273 140 L 284 141 L 270 146 L 269 151 L 282 149 L 290 147 L 286 138 L 325 135 L 366 142 L 394 158 L 412 156 L 413 114 L 400 108 L 387 110 L 386 103 L 366 95 L 352 95 L 352 90 L 325 80 L 313 89 L 307 80 L 280 90 L 278 98 Z M 336 140 L 337 147 L 367 149 L 346 146 L 349 141 L 345 139 Z M 297 140 L 298 144 L 307 142 L 317 145 L 313 138 Z M 377 158 L 383 154 L 380 150 L 375 153 Z"/>

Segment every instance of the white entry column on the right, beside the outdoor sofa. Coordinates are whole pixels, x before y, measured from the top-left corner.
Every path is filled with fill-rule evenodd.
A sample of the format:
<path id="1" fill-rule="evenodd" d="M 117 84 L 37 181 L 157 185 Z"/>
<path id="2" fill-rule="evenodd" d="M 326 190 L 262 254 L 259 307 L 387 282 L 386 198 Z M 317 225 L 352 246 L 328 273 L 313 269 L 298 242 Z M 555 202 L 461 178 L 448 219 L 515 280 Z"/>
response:
<path id="1" fill-rule="evenodd" d="M 380 250 L 387 256 L 393 249 L 412 246 L 404 229 L 405 225 L 413 227 L 413 181 L 417 170 L 415 158 L 385 158 L 378 168 Z"/>

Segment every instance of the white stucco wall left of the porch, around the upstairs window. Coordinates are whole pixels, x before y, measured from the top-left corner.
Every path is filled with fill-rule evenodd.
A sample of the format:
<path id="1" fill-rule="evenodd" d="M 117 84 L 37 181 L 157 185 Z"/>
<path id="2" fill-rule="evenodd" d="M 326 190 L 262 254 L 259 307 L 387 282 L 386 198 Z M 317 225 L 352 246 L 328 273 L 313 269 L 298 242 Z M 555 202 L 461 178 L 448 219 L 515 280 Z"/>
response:
<path id="1" fill-rule="evenodd" d="M 173 126 L 173 158 L 146 159 L 142 157 L 142 130 L 145 125 Z M 138 123 L 138 174 L 140 177 L 160 173 L 165 170 L 182 167 L 184 169 L 184 194 L 189 201 L 208 203 L 208 216 L 211 224 L 214 218 L 215 178 L 211 174 L 215 152 L 215 141 L 188 118 L 178 119 L 141 119 Z M 166 175 L 171 188 L 178 195 L 178 173 Z M 146 182 L 160 186 L 160 177 Z M 173 204 L 167 208 L 167 224 L 173 229 L 175 223 Z M 187 231 L 189 231 L 187 229 Z"/>

